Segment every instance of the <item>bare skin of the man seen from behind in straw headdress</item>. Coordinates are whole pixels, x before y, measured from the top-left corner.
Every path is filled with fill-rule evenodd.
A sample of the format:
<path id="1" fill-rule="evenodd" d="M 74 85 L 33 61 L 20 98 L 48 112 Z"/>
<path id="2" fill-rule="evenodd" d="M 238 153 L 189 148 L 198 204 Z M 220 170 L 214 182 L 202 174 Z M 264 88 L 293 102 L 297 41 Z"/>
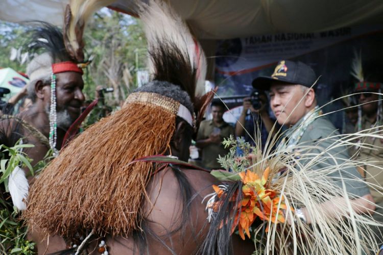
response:
<path id="1" fill-rule="evenodd" d="M 188 159 L 188 147 L 191 142 L 190 126 L 185 121 L 180 121 L 176 125 L 176 132 L 171 143 L 171 154 L 177 156 L 181 160 Z M 206 221 L 207 213 L 205 211 L 206 201 L 202 203 L 205 195 L 212 193 L 212 185 L 217 184 L 217 180 L 208 172 L 182 169 L 186 175 L 190 185 L 193 188 L 193 199 L 190 212 L 190 220 L 181 222 L 182 215 L 182 198 L 180 197 L 179 186 L 176 176 L 171 168 L 166 168 L 154 175 L 147 186 L 150 202 L 143 205 L 144 213 L 149 222 L 149 227 L 161 239 L 172 247 L 176 254 L 194 254 L 196 247 L 199 247 L 207 234 L 208 223 Z M 180 224 L 185 225 L 185 232 L 176 232 L 171 236 L 165 236 L 166 232 L 174 230 Z M 197 235 L 196 233 L 199 233 Z M 31 235 L 32 239 L 37 242 L 39 254 L 55 252 L 65 249 L 65 242 L 60 237 L 51 237 L 49 247 L 47 248 L 46 240 L 36 232 Z M 110 254 L 138 254 L 137 244 L 134 243 L 132 237 L 111 237 L 105 239 Z M 242 241 L 239 236 L 233 235 L 233 248 L 235 254 L 251 254 L 254 251 L 254 244 L 251 241 Z M 90 254 L 99 254 L 97 251 L 98 243 L 96 240 L 90 244 L 87 252 Z M 158 240 L 148 235 L 148 251 L 149 254 L 171 254 Z M 133 252 L 135 248 L 135 252 Z M 145 251 L 146 252 L 146 251 Z"/>

